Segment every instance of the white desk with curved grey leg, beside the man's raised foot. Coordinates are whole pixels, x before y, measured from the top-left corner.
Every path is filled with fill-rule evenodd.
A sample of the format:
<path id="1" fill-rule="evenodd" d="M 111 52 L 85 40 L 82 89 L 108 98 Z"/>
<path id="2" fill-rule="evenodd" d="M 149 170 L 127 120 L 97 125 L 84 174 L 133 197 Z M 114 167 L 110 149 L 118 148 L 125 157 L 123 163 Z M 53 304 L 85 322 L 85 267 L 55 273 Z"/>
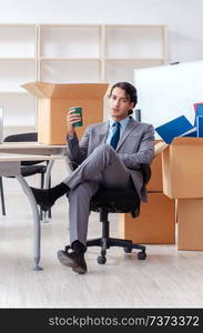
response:
<path id="1" fill-rule="evenodd" d="M 45 185 L 48 186 L 51 168 L 55 160 L 68 159 L 65 155 L 67 145 L 44 145 L 37 142 L 23 143 L 3 143 L 0 144 L 0 175 L 16 176 L 27 194 L 33 215 L 33 270 L 39 271 L 41 225 L 40 215 L 35 199 L 24 178 L 21 175 L 21 161 L 50 161 L 45 175 Z M 38 154 L 37 154 L 38 153 Z M 69 164 L 67 163 L 69 167 Z"/>

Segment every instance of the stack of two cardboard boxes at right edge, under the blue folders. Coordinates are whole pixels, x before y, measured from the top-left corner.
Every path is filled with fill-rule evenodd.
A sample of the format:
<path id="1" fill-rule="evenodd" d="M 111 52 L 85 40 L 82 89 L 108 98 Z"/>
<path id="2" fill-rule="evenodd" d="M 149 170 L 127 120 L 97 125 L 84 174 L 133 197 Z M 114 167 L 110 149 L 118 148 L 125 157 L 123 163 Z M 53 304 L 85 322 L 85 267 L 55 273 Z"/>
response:
<path id="1" fill-rule="evenodd" d="M 203 139 L 174 139 L 162 162 L 163 192 L 177 199 L 177 250 L 203 250 Z"/>

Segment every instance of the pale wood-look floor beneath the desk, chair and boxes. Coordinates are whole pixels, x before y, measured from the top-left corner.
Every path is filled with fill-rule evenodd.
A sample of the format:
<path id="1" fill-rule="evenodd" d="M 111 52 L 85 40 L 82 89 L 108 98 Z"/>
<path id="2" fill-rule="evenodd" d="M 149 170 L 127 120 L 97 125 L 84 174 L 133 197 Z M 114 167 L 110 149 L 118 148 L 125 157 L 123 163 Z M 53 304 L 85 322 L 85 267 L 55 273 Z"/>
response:
<path id="1" fill-rule="evenodd" d="M 32 271 L 32 218 L 23 193 L 10 193 L 7 216 L 0 218 L 0 307 L 202 307 L 203 252 L 176 245 L 148 245 L 148 258 L 122 249 L 108 250 L 105 265 L 99 248 L 87 253 L 88 273 L 62 266 L 57 251 L 69 243 L 68 205 L 61 198 L 52 219 L 42 223 L 42 271 Z M 90 216 L 89 238 L 101 233 L 98 213 Z M 110 215 L 118 235 L 118 216 Z"/>

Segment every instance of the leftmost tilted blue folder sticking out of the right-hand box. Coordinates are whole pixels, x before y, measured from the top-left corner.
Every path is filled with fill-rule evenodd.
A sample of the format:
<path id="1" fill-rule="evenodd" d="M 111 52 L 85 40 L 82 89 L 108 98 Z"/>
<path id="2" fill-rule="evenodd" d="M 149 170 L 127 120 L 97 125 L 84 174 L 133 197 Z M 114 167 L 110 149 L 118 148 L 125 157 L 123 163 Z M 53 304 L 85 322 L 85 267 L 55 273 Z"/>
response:
<path id="1" fill-rule="evenodd" d="M 155 131 L 166 143 L 171 143 L 174 138 L 180 137 L 193 129 L 191 122 L 186 119 L 185 115 L 177 117 L 158 128 Z"/>

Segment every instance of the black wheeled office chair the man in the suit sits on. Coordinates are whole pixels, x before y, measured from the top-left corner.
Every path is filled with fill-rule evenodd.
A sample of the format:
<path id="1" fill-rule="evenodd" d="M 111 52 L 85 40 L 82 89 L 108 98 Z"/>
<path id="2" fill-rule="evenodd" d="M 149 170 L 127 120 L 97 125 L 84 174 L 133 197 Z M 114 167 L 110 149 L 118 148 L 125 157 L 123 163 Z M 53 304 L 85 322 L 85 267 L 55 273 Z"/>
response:
<path id="1" fill-rule="evenodd" d="M 75 164 L 72 168 L 75 169 Z M 141 171 L 144 184 L 146 184 L 151 178 L 151 168 L 149 164 L 141 164 Z M 110 238 L 109 213 L 131 213 L 132 218 L 140 214 L 140 198 L 133 189 L 100 189 L 91 199 L 90 211 L 100 212 L 100 222 L 102 223 L 102 236 L 87 241 L 87 246 L 101 246 L 101 255 L 98 256 L 99 264 L 106 262 L 106 250 L 111 246 L 121 246 L 125 253 L 131 253 L 132 249 L 138 249 L 141 250 L 138 253 L 138 259 L 144 260 L 146 258 L 144 245 L 135 244 L 131 240 Z"/>

